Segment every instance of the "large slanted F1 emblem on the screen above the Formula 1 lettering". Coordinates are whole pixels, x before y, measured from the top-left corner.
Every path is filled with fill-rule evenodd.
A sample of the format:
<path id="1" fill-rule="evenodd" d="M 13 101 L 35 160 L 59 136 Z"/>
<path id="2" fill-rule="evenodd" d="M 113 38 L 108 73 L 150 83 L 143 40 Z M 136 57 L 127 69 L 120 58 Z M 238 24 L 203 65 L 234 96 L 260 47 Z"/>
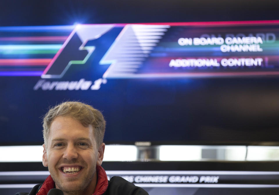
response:
<path id="1" fill-rule="evenodd" d="M 103 78 L 133 77 L 169 27 L 140 24 L 77 25 L 41 77 L 62 78 L 72 64 L 84 64 L 96 47 L 113 34 L 117 34 L 117 38 L 99 62 L 99 65 L 111 64 Z"/>

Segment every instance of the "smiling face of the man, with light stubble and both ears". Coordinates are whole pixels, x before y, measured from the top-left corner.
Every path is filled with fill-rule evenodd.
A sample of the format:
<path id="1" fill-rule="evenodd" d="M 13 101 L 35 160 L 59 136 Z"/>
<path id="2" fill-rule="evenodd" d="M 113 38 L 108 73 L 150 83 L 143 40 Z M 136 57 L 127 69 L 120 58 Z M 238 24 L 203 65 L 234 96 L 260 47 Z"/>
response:
<path id="1" fill-rule="evenodd" d="M 71 117 L 53 120 L 47 148 L 43 145 L 43 165 L 48 166 L 56 188 L 64 192 L 95 188 L 96 165 L 102 164 L 105 144 L 97 148 L 93 134 L 92 126 Z"/>

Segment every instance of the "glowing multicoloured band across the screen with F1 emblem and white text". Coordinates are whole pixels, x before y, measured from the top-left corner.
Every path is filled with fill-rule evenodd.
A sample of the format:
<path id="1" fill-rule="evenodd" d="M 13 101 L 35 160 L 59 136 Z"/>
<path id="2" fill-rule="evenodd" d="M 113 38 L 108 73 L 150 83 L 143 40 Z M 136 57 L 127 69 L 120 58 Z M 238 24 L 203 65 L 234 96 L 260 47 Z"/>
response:
<path id="1" fill-rule="evenodd" d="M 1 75 L 62 78 L 71 64 L 85 64 L 96 48 L 108 46 L 95 65 L 110 65 L 103 78 L 274 75 L 279 66 L 277 26 L 278 21 L 2 27 L 3 34 L 29 30 L 53 36 L 1 37 L 3 67 L 48 65 L 42 74 L 2 69 Z M 72 30 L 67 38 L 55 36 L 67 30 Z M 15 54 L 34 58 L 6 59 Z M 55 56 L 36 58 L 38 54 Z"/>

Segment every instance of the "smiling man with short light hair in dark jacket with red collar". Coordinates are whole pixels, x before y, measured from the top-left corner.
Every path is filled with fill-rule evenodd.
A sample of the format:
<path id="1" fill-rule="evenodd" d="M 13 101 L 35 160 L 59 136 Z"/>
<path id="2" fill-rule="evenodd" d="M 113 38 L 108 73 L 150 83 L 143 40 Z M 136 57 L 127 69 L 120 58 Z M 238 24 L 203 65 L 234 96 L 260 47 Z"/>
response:
<path id="1" fill-rule="evenodd" d="M 43 165 L 50 176 L 30 193 L 17 195 L 47 195 L 53 188 L 64 195 L 148 195 L 121 177 L 108 181 L 101 167 L 104 133 L 103 115 L 92 106 L 64 102 L 51 108 L 43 121 Z"/>

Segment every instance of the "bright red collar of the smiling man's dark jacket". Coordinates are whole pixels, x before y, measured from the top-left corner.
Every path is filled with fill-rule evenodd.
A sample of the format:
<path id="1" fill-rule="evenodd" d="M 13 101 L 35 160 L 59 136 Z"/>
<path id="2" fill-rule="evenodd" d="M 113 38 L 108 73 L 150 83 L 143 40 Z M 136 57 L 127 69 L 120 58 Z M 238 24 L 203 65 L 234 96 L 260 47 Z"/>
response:
<path id="1" fill-rule="evenodd" d="M 96 166 L 97 184 L 92 195 L 101 195 L 108 189 L 108 177 L 105 170 L 101 166 Z M 41 189 L 36 195 L 47 195 L 50 189 L 54 188 L 54 181 L 49 175 L 44 181 Z"/>

